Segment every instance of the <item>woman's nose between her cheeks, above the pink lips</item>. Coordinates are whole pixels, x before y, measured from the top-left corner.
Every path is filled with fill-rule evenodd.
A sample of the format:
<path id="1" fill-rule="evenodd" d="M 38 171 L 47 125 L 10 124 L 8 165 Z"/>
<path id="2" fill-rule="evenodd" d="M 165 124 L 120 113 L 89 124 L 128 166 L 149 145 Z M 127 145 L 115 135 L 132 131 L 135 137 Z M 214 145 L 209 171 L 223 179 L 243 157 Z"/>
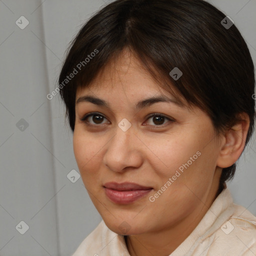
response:
<path id="1" fill-rule="evenodd" d="M 143 162 L 142 146 L 132 126 L 126 131 L 117 126 L 115 135 L 106 144 L 103 164 L 115 172 L 139 168 Z"/>

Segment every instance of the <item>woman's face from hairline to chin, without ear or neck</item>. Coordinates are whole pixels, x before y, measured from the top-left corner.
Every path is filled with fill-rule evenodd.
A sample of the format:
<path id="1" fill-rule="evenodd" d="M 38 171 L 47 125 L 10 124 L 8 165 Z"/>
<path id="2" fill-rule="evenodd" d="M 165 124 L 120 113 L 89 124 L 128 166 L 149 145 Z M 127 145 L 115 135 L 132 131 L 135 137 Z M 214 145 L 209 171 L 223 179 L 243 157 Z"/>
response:
<path id="1" fill-rule="evenodd" d="M 128 51 L 90 85 L 76 92 L 73 149 L 106 225 L 142 234 L 196 218 L 212 202 L 219 180 L 220 145 L 210 118 L 178 105 Z M 172 100 L 136 107 L 160 96 Z"/>

